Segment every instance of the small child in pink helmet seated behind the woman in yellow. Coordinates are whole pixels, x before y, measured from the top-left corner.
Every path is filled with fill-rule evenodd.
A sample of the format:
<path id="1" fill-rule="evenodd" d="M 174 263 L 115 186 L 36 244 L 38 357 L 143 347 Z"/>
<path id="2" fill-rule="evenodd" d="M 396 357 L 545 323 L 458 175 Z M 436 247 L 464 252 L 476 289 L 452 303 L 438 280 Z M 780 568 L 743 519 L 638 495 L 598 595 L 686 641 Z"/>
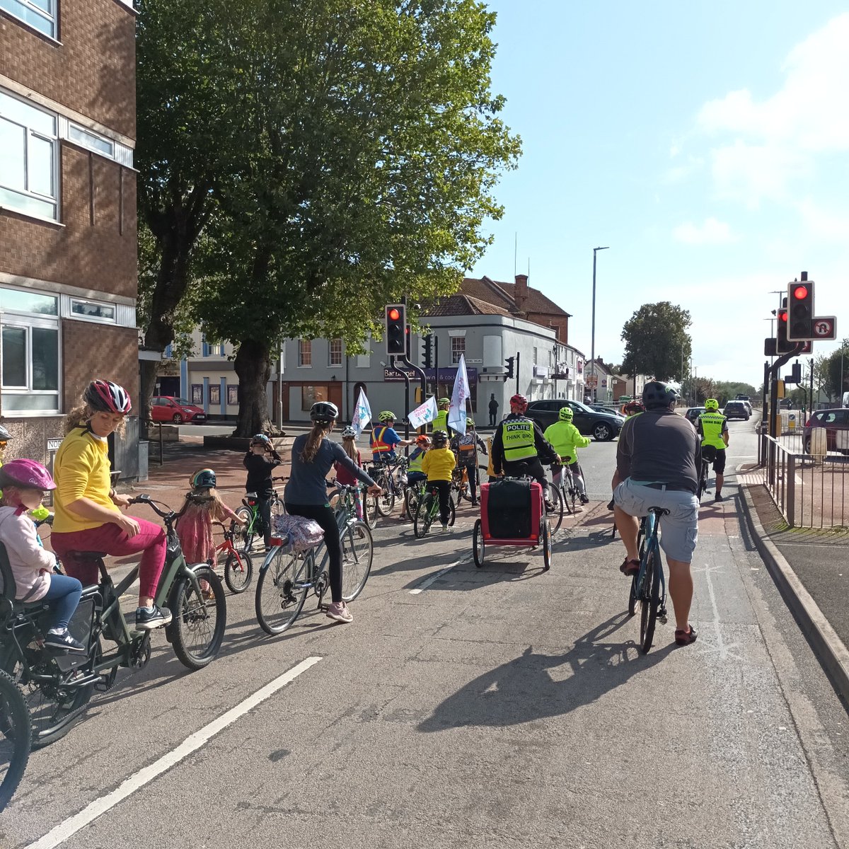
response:
<path id="1" fill-rule="evenodd" d="M 85 651 L 71 637 L 68 622 L 80 602 L 82 583 L 67 575 L 53 574 L 56 555 L 38 542 L 36 526 L 27 511 L 41 507 L 45 490 L 56 488 L 47 469 L 35 460 L 12 460 L 0 469 L 0 543 L 6 547 L 12 567 L 15 599 L 46 601 L 50 605 L 44 644 L 50 649 Z"/>

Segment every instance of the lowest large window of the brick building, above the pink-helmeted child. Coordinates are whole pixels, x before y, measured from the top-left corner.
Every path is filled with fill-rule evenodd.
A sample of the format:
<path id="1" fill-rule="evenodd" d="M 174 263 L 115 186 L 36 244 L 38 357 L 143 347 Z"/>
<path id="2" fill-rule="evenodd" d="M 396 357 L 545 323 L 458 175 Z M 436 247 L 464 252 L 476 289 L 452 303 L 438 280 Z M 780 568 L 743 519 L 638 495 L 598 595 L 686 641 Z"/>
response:
<path id="1" fill-rule="evenodd" d="M 59 299 L 0 290 L 3 412 L 59 412 Z"/>

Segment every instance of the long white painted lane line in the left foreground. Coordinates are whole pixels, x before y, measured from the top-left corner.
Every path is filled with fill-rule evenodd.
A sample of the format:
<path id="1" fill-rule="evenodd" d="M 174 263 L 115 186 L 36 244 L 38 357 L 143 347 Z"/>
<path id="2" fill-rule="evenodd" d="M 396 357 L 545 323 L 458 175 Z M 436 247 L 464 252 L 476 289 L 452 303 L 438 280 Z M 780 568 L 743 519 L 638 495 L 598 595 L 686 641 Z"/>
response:
<path id="1" fill-rule="evenodd" d="M 126 781 L 121 784 L 116 790 L 103 796 L 102 798 L 93 801 L 87 807 L 84 807 L 81 812 L 75 814 L 65 820 L 64 823 L 59 823 L 55 828 L 50 829 L 46 835 L 39 838 L 35 843 L 25 846 L 25 849 L 53 849 L 54 846 L 59 846 L 64 843 L 69 837 L 76 835 L 80 829 L 84 829 L 88 824 L 92 823 L 101 814 L 115 807 L 119 802 L 131 796 L 136 790 L 140 790 L 145 784 L 149 784 L 158 775 L 166 772 L 175 764 L 188 757 L 193 751 L 200 749 L 202 745 L 208 742 L 212 737 L 227 728 L 239 717 L 245 716 L 245 713 L 255 708 L 261 701 L 266 700 L 269 696 L 275 694 L 278 689 L 285 687 L 286 684 L 294 681 L 301 672 L 306 672 L 310 666 L 315 666 L 320 657 L 307 657 L 305 661 L 301 661 L 297 666 L 293 666 L 289 672 L 284 672 L 283 675 L 274 678 L 270 683 L 267 683 L 262 689 L 258 689 L 256 693 L 248 696 L 245 701 L 231 708 L 227 713 L 222 714 L 205 728 L 200 731 L 195 731 L 176 749 L 168 752 L 160 757 L 158 761 L 151 763 L 149 766 L 140 769 L 135 775 L 131 775 Z"/>

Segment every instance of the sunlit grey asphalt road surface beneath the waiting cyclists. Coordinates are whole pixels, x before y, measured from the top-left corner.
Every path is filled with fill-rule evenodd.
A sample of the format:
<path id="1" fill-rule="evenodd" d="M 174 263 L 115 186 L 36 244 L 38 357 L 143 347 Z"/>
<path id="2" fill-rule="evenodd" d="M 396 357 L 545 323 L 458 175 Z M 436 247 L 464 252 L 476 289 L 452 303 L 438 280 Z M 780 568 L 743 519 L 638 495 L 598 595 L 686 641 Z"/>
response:
<path id="1" fill-rule="evenodd" d="M 732 424 L 734 463 L 753 446 Z M 524 549 L 475 569 L 466 507 L 446 536 L 378 528 L 351 625 L 308 605 L 268 638 L 249 590 L 205 670 L 157 635 L 32 756 L 0 845 L 849 846 L 846 714 L 736 498 L 702 509 L 698 642 L 659 626 L 638 653 L 600 503 L 615 450 L 582 455 L 598 502 L 547 573 Z"/>

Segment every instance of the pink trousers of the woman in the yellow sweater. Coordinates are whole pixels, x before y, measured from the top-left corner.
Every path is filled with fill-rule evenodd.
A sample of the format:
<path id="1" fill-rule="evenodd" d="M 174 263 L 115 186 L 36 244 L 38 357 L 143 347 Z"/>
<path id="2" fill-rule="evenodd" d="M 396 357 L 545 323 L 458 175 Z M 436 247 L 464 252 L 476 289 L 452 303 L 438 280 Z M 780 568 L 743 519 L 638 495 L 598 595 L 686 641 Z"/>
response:
<path id="1" fill-rule="evenodd" d="M 103 551 L 117 557 L 141 552 L 138 594 L 153 598 L 162 567 L 165 565 L 165 530 L 146 519 L 138 519 L 136 516 L 132 518 L 138 522 L 138 533 L 135 537 L 127 537 L 125 531 L 109 522 L 96 528 L 87 528 L 85 531 L 53 532 L 50 535 L 50 544 L 62 560 L 65 571 L 79 580 L 83 587 L 98 583 L 98 567 L 90 560 L 76 559 L 74 552 Z"/>

